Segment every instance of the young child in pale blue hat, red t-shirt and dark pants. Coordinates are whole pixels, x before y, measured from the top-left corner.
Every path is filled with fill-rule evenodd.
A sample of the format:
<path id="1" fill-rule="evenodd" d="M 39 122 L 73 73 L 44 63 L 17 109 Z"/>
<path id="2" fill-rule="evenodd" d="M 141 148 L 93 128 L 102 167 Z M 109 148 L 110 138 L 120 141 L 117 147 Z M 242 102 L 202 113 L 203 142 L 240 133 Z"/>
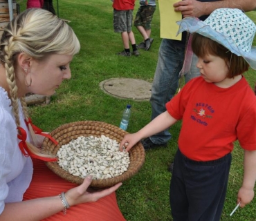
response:
<path id="1" fill-rule="evenodd" d="M 134 134 L 125 135 L 126 151 L 143 137 L 182 119 L 174 158 L 170 204 L 174 220 L 219 220 L 226 198 L 233 142 L 244 148 L 241 207 L 254 197 L 256 180 L 256 97 L 243 74 L 256 69 L 252 42 L 256 26 L 241 10 L 221 8 L 200 21 L 178 22 L 193 34 L 201 76 L 190 80 L 166 104 L 167 111 Z"/>

